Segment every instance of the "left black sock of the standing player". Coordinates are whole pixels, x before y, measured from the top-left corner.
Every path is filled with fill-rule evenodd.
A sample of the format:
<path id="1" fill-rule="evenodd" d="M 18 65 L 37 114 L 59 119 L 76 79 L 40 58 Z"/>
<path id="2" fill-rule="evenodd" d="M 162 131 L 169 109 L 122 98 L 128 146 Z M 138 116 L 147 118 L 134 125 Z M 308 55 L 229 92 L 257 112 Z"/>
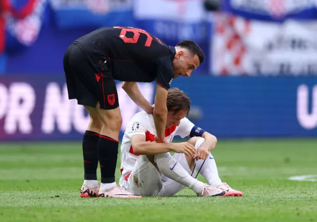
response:
<path id="1" fill-rule="evenodd" d="M 86 131 L 83 136 L 84 178 L 85 180 L 97 180 L 98 145 L 99 134 Z"/>

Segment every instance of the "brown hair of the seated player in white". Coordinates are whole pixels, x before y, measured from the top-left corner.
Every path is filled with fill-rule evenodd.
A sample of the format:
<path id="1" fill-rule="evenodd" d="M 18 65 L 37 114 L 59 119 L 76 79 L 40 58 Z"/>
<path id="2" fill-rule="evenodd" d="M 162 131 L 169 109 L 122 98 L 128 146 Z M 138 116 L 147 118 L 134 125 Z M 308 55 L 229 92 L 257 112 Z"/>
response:
<path id="1" fill-rule="evenodd" d="M 174 115 L 181 110 L 190 111 L 190 99 L 186 93 L 178 88 L 171 88 L 167 93 L 167 111 L 174 111 Z"/>

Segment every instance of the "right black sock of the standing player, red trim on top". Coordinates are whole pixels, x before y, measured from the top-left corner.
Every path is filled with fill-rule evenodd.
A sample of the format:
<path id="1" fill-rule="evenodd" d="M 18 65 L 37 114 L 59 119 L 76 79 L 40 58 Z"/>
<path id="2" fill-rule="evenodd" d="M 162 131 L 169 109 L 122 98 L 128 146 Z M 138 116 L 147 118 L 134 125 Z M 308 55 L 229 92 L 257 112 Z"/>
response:
<path id="1" fill-rule="evenodd" d="M 108 136 L 99 135 L 98 158 L 101 170 L 101 182 L 115 182 L 115 168 L 118 158 L 119 142 Z"/>

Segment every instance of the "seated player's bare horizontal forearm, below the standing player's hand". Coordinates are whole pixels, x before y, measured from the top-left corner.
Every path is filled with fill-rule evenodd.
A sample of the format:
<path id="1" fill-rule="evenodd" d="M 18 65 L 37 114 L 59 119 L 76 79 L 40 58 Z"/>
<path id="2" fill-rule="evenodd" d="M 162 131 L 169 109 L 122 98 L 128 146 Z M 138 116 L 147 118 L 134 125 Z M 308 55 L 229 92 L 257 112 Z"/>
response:
<path id="1" fill-rule="evenodd" d="M 132 146 L 136 155 L 156 155 L 171 152 L 170 143 L 138 142 Z"/>

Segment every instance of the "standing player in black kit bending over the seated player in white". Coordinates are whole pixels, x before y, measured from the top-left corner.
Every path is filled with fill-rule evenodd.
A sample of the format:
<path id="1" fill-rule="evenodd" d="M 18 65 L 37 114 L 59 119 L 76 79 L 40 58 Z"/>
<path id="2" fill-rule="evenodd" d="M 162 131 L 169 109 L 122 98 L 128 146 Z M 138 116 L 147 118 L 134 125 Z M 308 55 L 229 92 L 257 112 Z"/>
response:
<path id="1" fill-rule="evenodd" d="M 189 77 L 205 59 L 193 41 L 168 47 L 150 33 L 132 27 L 104 27 L 74 41 L 63 64 L 69 99 L 90 114 L 83 136 L 84 184 L 81 197 L 140 198 L 115 183 L 118 137 L 122 124 L 114 80 L 144 111 L 153 112 L 157 141 L 165 142 L 167 90 L 173 78 Z M 157 82 L 155 108 L 137 82 Z M 97 181 L 98 162 L 101 186 Z"/>

